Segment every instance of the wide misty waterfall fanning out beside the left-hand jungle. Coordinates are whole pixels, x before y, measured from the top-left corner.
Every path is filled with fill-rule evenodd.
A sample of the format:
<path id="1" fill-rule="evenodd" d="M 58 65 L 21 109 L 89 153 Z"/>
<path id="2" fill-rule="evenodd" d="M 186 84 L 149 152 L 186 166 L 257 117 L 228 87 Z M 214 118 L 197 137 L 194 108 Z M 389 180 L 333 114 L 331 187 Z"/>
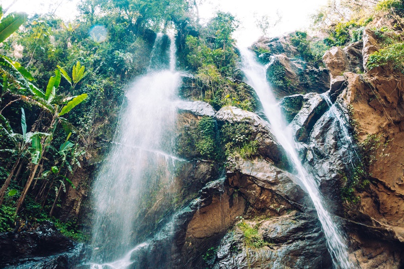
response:
<path id="1" fill-rule="evenodd" d="M 117 133 L 92 189 L 92 268 L 127 268 L 137 246 L 138 219 L 153 191 L 170 192 L 176 90 L 174 38 L 158 34 L 148 71 L 126 90 Z M 170 160 L 171 159 L 171 160 Z M 142 207 L 142 208 L 140 208 Z M 140 216 L 140 217 L 139 217 Z"/>

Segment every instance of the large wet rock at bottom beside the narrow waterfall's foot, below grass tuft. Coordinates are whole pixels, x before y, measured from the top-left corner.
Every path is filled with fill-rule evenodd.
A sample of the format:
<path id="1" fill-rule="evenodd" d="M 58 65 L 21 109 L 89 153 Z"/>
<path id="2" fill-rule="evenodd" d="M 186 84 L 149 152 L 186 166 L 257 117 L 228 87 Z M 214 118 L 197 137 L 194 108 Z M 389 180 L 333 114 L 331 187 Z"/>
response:
<path id="1" fill-rule="evenodd" d="M 258 227 L 264 246 L 245 246 L 243 232 L 237 226 L 220 242 L 213 268 L 332 268 L 320 225 L 313 214 L 292 211 L 260 222 L 246 221 Z"/>

